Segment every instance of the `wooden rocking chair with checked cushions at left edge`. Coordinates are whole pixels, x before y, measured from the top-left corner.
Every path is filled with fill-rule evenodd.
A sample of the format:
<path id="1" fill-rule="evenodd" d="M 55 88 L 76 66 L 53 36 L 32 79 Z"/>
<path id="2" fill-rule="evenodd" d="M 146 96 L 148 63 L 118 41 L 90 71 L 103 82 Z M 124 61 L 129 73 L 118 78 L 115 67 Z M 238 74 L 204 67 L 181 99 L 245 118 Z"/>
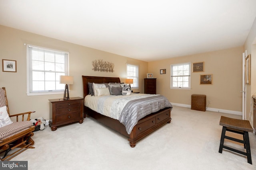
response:
<path id="1" fill-rule="evenodd" d="M 10 160 L 28 148 L 34 148 L 31 146 L 34 145 L 31 137 L 34 135 L 35 126 L 29 120 L 30 114 L 35 111 L 10 115 L 6 90 L 3 87 L 0 88 L 0 107 L 4 106 L 6 106 L 9 117 L 16 116 L 16 122 L 0 127 L 0 154 L 5 152 L 0 160 Z M 24 121 L 24 115 L 27 115 L 26 121 Z M 22 121 L 18 121 L 19 117 L 22 117 Z M 19 149 L 8 155 L 8 152 L 15 148 Z"/>

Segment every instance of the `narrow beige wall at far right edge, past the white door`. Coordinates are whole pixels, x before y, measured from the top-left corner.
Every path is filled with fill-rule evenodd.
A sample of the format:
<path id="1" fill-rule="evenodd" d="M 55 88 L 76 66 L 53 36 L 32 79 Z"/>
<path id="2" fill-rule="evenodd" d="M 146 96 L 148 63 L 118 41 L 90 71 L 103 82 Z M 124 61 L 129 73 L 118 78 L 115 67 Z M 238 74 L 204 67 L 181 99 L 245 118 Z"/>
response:
<path id="1" fill-rule="evenodd" d="M 253 125 L 253 103 L 251 104 L 251 98 L 256 93 L 256 18 L 244 43 L 245 50 L 247 55 L 251 54 L 251 85 L 246 85 L 246 119 Z"/>

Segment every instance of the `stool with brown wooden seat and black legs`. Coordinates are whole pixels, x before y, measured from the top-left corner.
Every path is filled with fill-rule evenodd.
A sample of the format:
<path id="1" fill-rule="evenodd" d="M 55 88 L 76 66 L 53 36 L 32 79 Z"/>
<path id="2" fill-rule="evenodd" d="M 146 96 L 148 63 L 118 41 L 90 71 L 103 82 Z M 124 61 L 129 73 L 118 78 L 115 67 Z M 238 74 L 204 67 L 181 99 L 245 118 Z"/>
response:
<path id="1" fill-rule="evenodd" d="M 253 132 L 253 129 L 252 129 L 252 126 L 250 125 L 250 122 L 248 120 L 232 119 L 229 117 L 221 116 L 220 125 L 222 125 L 223 127 L 222 127 L 222 133 L 221 133 L 221 138 L 220 138 L 219 152 L 222 153 L 222 149 L 224 148 L 224 149 L 228 149 L 228 150 L 231 150 L 231 151 L 239 153 L 239 154 L 243 154 L 243 155 L 247 156 L 247 162 L 249 164 L 252 164 L 252 156 L 251 156 L 248 132 Z M 226 136 L 225 135 L 226 131 L 241 134 L 241 135 L 243 135 L 244 140 Z M 232 140 L 232 141 L 239 142 L 239 143 L 243 143 L 244 149 L 246 149 L 246 152 L 225 146 L 224 145 L 225 138 Z"/>

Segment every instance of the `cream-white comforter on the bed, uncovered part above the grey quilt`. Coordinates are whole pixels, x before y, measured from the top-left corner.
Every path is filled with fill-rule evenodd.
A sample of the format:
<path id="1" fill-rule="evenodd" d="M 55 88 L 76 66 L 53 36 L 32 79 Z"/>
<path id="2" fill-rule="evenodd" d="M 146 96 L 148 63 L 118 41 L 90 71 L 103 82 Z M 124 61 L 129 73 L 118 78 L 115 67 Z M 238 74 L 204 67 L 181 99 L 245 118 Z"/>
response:
<path id="1" fill-rule="evenodd" d="M 132 93 L 129 96 L 109 95 L 109 96 L 98 96 L 98 97 L 87 95 L 84 98 L 84 106 L 89 107 L 90 109 L 102 115 L 118 120 L 122 109 L 129 101 L 140 99 L 140 98 L 147 98 L 150 96 L 158 96 L 158 94 Z"/>

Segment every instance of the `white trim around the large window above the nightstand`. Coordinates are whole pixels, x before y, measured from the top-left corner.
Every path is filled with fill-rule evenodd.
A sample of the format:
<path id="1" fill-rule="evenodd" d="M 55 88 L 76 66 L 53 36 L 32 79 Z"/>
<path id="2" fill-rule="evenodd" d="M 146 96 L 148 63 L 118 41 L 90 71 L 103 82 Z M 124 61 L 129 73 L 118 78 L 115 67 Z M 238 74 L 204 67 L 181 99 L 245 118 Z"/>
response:
<path id="1" fill-rule="evenodd" d="M 69 52 L 67 51 L 61 51 L 61 50 L 55 50 L 55 49 L 49 49 L 49 48 L 46 48 L 46 47 L 39 47 L 39 46 L 36 46 L 36 45 L 29 45 L 27 44 L 27 96 L 39 96 L 39 95 L 51 95 L 51 94 L 63 94 L 64 92 L 64 85 L 63 85 L 63 90 L 59 90 L 59 91 L 54 91 L 54 92 L 51 92 L 51 91 L 48 91 L 48 92 L 33 92 L 31 93 L 30 92 L 30 82 L 29 82 L 29 76 L 30 76 L 30 56 L 29 56 L 29 50 L 28 48 L 29 47 L 36 47 L 36 48 L 41 48 L 41 49 L 47 49 L 48 51 L 58 51 L 58 52 L 61 52 L 61 53 L 67 53 L 68 54 L 68 70 L 67 70 L 67 74 L 69 75 Z M 69 85 L 68 85 L 69 86 Z"/>

